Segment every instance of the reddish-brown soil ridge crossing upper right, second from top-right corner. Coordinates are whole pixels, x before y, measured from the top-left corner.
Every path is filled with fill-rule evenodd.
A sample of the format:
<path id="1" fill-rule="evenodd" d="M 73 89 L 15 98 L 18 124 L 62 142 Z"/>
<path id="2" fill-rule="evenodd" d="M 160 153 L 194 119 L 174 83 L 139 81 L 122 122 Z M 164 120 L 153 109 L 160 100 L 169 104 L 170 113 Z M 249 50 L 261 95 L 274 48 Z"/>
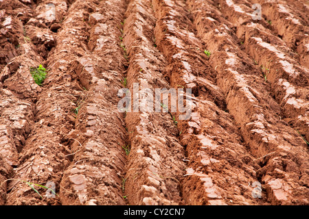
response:
<path id="1" fill-rule="evenodd" d="M 251 7 L 254 3 L 260 5 L 260 18 L 254 17 L 255 10 Z M 255 8 L 256 9 L 256 8 Z M 309 64 L 309 28 L 308 19 L 304 14 L 297 14 L 297 10 L 284 1 L 220 1 L 220 10 L 236 26 L 260 23 L 269 29 L 274 36 L 284 40 L 290 48 L 289 52 L 299 63 L 308 67 Z M 301 18 L 302 17 L 302 18 Z"/>

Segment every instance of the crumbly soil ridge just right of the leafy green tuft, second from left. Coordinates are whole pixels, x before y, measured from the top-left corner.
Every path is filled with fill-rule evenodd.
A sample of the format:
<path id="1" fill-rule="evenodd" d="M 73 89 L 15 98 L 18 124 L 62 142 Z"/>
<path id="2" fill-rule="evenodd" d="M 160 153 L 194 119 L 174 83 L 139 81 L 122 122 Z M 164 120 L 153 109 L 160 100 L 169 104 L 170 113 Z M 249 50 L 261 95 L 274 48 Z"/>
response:
<path id="1" fill-rule="evenodd" d="M 67 4 L 65 1 L 53 2 L 55 3 L 54 5 L 56 5 L 54 10 L 56 17 L 58 17 L 57 14 L 65 13 L 67 8 L 61 7 L 61 5 Z M 48 181 L 59 183 L 59 179 L 62 175 L 59 171 L 69 163 L 69 161 L 65 159 L 64 153 L 62 153 L 65 152 L 65 147 L 63 147 L 60 142 L 62 142 L 62 135 L 66 131 L 69 131 L 72 126 L 67 122 L 67 118 L 64 117 L 64 112 L 69 111 L 71 108 L 71 104 L 69 103 L 70 99 L 64 94 L 67 90 L 61 90 L 57 83 L 55 83 L 55 85 L 58 86 L 58 88 L 56 88 L 55 85 L 54 87 L 51 86 L 49 83 L 55 79 L 53 76 L 56 69 L 49 68 L 48 79 L 43 83 L 43 87 L 34 83 L 32 75 L 30 74 L 30 67 L 36 68 L 40 64 L 45 63 L 43 62 L 43 58 L 39 61 L 35 59 L 41 57 L 41 55 L 47 57 L 47 51 L 52 49 L 55 45 L 55 38 L 52 32 L 47 28 L 51 26 L 53 22 L 58 21 L 56 21 L 55 18 L 53 21 L 49 22 L 50 8 L 46 7 L 48 4 L 47 1 L 41 1 L 39 5 L 32 5 L 36 16 L 31 18 L 24 25 L 26 36 L 23 37 L 23 40 L 30 49 L 25 49 L 25 55 L 28 59 L 23 57 L 21 62 L 19 62 L 27 63 L 27 65 L 22 65 L 27 66 L 27 68 L 24 67 L 23 70 L 21 70 L 21 75 L 23 77 L 21 77 L 21 82 L 17 82 L 20 86 L 16 87 L 15 81 L 15 77 L 19 76 L 19 70 L 17 70 L 14 75 L 8 77 L 4 82 L 4 84 L 8 83 L 7 88 L 16 92 L 19 96 L 23 95 L 21 97 L 28 99 L 31 97 L 33 103 L 36 103 L 33 105 L 34 116 L 32 116 L 31 121 L 32 130 L 25 139 L 23 148 L 19 153 L 19 164 L 14 169 L 12 178 L 41 185 L 46 185 Z M 60 8 L 58 8 L 58 5 L 60 5 Z M 48 26 L 43 26 L 39 29 L 37 28 L 39 23 L 46 23 Z M 38 49 L 40 44 L 42 44 L 43 47 L 46 46 L 44 54 L 42 53 L 43 47 L 41 47 L 41 50 Z M 21 44 L 21 48 L 22 47 L 23 44 Z M 38 53 L 41 55 L 38 55 Z M 47 86 L 45 86 L 45 84 Z M 38 92 L 38 94 L 36 94 L 36 92 Z M 21 123 L 21 125 L 24 124 L 27 125 L 27 123 Z M 32 190 L 29 184 L 19 180 L 10 181 L 6 205 L 46 205 L 58 203 L 57 199 L 46 200 L 41 198 Z M 44 195 L 43 192 L 46 192 L 46 190 L 40 188 L 38 192 L 41 193 L 40 195 Z"/>

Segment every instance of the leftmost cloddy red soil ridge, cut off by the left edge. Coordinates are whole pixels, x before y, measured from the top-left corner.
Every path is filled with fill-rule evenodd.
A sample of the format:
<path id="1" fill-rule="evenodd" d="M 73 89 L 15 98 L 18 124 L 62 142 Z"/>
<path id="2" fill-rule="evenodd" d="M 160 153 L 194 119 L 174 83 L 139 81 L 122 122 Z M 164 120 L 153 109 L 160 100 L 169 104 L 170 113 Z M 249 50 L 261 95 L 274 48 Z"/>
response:
<path id="1" fill-rule="evenodd" d="M 3 42 L 4 47 L 1 47 L 1 55 L 6 55 L 4 59 L 6 65 L 1 69 L 0 74 L 1 154 L 5 155 L 6 162 L 14 168 L 19 166 L 21 157 L 19 153 L 23 150 L 28 135 L 32 131 L 34 103 L 42 90 L 34 82 L 30 68 L 36 68 L 42 64 L 43 58 L 38 55 L 23 25 L 33 15 L 31 6 L 34 5 L 24 5 L 19 1 L 1 2 L 1 34 L 3 34 L 1 38 L 4 36 L 4 40 L 7 40 Z M 3 44 L 1 42 L 1 46 Z M 13 172 L 12 168 L 7 167 L 3 164 L 3 172 L 8 178 L 12 178 L 15 170 Z M 12 190 L 12 183 L 12 181 L 5 183 L 8 184 L 5 192 Z"/>

